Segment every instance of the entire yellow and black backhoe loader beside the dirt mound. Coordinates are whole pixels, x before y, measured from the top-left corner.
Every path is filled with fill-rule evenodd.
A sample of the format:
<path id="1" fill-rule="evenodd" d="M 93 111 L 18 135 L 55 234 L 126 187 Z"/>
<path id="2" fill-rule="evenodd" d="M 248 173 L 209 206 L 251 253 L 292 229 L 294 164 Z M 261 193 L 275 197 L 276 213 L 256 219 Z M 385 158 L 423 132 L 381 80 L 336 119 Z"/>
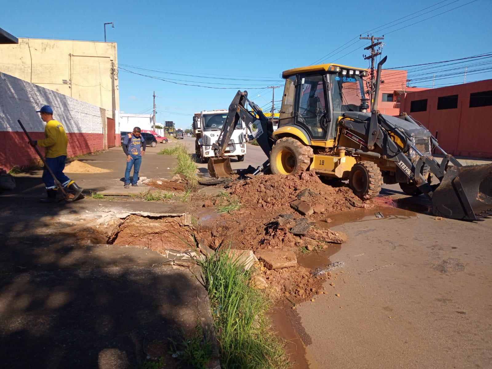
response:
<path id="1" fill-rule="evenodd" d="M 247 92 L 238 91 L 217 141 L 221 144 L 213 145 L 217 159 L 209 161 L 210 175 L 233 173 L 224 152 L 233 127 L 242 119 L 269 157 L 256 173 L 268 167 L 273 174 L 286 176 L 313 171 L 325 179 L 348 180 L 363 200 L 376 197 L 383 183 L 398 183 L 406 194 L 424 193 L 436 216 L 479 220 L 492 215 L 492 164 L 462 166 L 411 116 L 392 117 L 377 110 L 384 62 L 386 57 L 378 63 L 370 112 L 365 69 L 321 64 L 284 71 L 275 131 Z M 433 150 L 444 155 L 440 163 L 432 157 Z M 431 184 L 432 176 L 439 184 Z"/>

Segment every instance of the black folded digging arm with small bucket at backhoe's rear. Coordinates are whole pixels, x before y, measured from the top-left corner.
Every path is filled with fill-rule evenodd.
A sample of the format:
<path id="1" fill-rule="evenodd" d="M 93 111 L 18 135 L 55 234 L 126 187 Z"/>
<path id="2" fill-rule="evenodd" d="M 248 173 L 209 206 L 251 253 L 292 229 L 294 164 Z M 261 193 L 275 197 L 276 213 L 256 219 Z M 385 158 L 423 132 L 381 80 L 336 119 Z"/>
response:
<path id="1" fill-rule="evenodd" d="M 246 109 L 246 103 L 249 104 L 254 113 Z M 227 177 L 234 173 L 230 159 L 224 156 L 224 153 L 232 137 L 234 127 L 236 127 L 239 120 L 245 122 L 248 131 L 258 142 L 267 157 L 270 155 L 270 150 L 275 143 L 275 138 L 272 136 L 272 123 L 268 121 L 258 105 L 247 98 L 247 91 L 238 91 L 229 105 L 229 112 L 220 130 L 217 142 L 212 144 L 215 157 L 211 158 L 208 164 L 208 171 L 211 177 Z M 255 174 L 265 169 L 268 165 L 269 161 L 267 160 L 257 168 Z"/>

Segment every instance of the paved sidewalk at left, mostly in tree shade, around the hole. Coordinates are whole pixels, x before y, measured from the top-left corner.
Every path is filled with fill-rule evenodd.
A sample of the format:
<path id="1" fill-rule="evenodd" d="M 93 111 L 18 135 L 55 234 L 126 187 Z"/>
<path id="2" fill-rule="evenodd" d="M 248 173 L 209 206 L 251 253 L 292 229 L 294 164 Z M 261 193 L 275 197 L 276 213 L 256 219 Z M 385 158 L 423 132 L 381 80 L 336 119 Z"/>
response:
<path id="1" fill-rule="evenodd" d="M 142 177 L 172 178 L 175 159 L 157 155 L 163 147 L 148 148 Z M 85 199 L 38 203 L 45 192 L 40 171 L 16 176 L 17 187 L 0 194 L 1 366 L 129 369 L 163 356 L 166 368 L 177 368 L 169 338 L 181 342 L 197 323 L 212 326 L 199 269 L 170 265 L 140 246 L 94 243 L 83 227 L 93 219 L 105 227 L 117 213 L 186 221 L 189 205 L 92 199 L 90 191 L 123 188 L 124 154 L 113 148 L 79 160 L 113 170 L 68 174 Z"/>

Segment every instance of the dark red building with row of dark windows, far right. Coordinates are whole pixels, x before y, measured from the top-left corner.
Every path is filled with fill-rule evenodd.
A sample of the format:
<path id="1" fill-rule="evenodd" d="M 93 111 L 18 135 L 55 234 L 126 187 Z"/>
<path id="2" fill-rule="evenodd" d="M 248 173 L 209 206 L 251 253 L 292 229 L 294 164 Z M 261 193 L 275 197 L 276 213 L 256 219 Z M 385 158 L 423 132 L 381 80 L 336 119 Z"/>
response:
<path id="1" fill-rule="evenodd" d="M 492 79 L 400 98 L 400 111 L 425 125 L 448 154 L 492 158 Z"/>

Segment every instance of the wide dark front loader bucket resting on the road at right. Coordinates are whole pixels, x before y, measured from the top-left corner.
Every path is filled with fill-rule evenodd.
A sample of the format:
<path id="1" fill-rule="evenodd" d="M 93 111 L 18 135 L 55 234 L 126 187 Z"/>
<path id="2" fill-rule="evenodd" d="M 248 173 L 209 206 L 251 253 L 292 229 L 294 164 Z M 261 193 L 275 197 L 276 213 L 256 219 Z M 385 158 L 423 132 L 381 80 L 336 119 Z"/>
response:
<path id="1" fill-rule="evenodd" d="M 492 215 L 492 164 L 448 168 L 432 194 L 432 213 L 462 220 Z"/>

